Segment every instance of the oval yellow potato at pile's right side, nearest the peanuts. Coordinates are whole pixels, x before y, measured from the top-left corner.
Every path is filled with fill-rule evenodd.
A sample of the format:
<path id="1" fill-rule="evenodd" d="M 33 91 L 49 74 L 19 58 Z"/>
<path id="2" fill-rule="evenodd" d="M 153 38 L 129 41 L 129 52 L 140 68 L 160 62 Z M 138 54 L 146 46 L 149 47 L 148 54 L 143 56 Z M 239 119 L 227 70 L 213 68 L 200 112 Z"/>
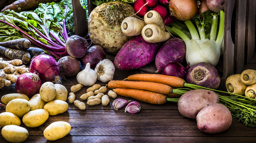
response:
<path id="1" fill-rule="evenodd" d="M 44 109 L 48 111 L 49 115 L 57 115 L 67 111 L 68 103 L 62 100 L 53 100 L 44 105 Z"/>

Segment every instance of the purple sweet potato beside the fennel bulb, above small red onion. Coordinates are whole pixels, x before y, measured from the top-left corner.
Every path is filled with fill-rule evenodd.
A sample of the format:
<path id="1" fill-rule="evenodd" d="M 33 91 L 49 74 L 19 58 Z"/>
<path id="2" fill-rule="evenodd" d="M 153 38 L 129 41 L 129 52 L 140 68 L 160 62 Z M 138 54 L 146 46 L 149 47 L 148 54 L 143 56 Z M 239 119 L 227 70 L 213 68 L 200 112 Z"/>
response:
<path id="1" fill-rule="evenodd" d="M 167 40 L 159 49 L 156 55 L 157 72 L 162 72 L 163 68 L 170 62 L 182 64 L 186 56 L 185 42 L 176 38 Z"/>

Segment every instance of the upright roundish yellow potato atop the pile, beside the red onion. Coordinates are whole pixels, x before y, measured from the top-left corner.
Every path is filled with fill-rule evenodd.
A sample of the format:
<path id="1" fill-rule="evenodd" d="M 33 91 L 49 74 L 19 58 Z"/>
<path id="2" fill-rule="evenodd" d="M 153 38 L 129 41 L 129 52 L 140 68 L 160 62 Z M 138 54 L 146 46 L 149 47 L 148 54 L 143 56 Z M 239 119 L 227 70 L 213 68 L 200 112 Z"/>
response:
<path id="1" fill-rule="evenodd" d="M 56 89 L 52 82 L 45 82 L 42 84 L 39 90 L 39 94 L 43 101 L 52 101 L 56 96 Z"/>

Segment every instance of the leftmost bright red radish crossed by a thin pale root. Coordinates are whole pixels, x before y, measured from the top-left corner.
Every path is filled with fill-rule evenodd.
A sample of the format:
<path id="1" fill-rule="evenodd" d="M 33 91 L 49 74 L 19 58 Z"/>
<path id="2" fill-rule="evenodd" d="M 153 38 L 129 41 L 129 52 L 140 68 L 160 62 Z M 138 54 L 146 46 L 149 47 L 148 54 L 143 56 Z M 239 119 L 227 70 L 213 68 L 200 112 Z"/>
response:
<path id="1" fill-rule="evenodd" d="M 136 0 L 134 2 L 134 11 L 140 16 L 144 16 L 148 11 L 148 6 L 145 0 Z"/>

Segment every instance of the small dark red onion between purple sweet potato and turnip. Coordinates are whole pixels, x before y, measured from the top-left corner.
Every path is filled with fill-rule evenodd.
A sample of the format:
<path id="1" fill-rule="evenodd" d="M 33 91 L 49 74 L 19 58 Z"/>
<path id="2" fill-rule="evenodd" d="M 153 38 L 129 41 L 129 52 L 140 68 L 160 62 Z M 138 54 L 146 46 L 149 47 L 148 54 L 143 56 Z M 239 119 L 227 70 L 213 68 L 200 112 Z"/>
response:
<path id="1" fill-rule="evenodd" d="M 170 62 L 168 63 L 162 71 L 163 75 L 170 75 L 170 76 L 176 76 L 180 77 L 182 79 L 186 79 L 186 73 L 189 68 L 189 63 L 187 67 L 183 67 L 180 63 L 178 62 Z"/>

